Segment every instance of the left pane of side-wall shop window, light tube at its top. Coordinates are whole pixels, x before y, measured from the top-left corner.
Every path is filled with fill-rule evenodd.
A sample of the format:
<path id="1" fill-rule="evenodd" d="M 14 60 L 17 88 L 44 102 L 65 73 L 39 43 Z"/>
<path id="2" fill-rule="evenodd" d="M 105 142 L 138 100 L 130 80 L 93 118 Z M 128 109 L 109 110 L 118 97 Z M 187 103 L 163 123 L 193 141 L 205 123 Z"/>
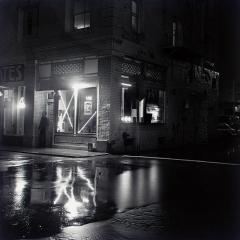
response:
<path id="1" fill-rule="evenodd" d="M 136 122 L 137 109 L 136 109 L 136 96 L 135 88 L 128 83 L 122 83 L 122 96 L 121 96 L 121 120 L 125 123 Z"/>

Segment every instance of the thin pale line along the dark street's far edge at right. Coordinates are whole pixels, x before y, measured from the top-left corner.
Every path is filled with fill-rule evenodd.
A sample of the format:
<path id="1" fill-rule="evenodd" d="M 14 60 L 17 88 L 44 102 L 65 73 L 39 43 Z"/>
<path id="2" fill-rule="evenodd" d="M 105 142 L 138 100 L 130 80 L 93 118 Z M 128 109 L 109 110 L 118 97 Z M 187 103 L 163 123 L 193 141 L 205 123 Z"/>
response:
<path id="1" fill-rule="evenodd" d="M 208 162 L 203 160 L 193 160 L 193 159 L 184 159 L 184 158 L 167 158 L 167 157 L 148 157 L 148 156 L 131 156 L 123 155 L 126 158 L 145 158 L 152 160 L 170 160 L 170 161 L 179 161 L 179 162 L 193 162 L 193 163 L 205 163 L 205 164 L 216 164 L 216 165 L 227 165 L 227 166 L 240 166 L 240 163 L 226 163 L 226 162 Z"/>

